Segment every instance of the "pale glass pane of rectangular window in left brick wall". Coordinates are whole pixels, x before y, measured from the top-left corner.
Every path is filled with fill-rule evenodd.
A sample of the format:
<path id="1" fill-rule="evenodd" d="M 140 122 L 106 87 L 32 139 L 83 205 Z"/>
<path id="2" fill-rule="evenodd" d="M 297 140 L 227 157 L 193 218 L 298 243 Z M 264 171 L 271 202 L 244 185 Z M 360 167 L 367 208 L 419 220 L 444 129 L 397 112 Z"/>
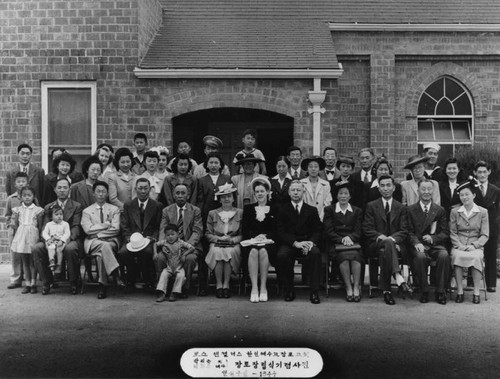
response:
<path id="1" fill-rule="evenodd" d="M 91 90 L 52 88 L 48 91 L 49 146 L 91 145 Z"/>

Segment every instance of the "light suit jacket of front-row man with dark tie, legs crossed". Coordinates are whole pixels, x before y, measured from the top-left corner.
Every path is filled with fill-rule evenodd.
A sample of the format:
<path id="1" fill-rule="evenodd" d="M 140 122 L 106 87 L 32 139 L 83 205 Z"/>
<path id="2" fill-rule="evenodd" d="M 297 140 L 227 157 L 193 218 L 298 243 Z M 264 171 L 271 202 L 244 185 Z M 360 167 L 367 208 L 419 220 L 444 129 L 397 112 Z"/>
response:
<path id="1" fill-rule="evenodd" d="M 97 203 L 85 208 L 82 213 L 82 228 L 87 238 L 83 241 L 85 253 L 89 253 L 92 241 L 95 237 L 114 241 L 120 246 L 118 236 L 120 234 L 120 209 L 112 204 L 103 205 L 104 222 L 110 223 L 109 227 L 103 227 Z"/>

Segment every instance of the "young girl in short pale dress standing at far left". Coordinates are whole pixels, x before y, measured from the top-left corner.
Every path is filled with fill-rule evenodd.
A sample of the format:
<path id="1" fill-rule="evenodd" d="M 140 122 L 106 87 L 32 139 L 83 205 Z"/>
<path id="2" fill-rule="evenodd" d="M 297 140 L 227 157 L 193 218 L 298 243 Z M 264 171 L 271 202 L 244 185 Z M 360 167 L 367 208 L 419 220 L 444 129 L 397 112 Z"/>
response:
<path id="1" fill-rule="evenodd" d="M 21 254 L 24 279 L 26 287 L 22 293 L 36 293 L 36 270 L 35 262 L 31 256 L 31 248 L 40 239 L 38 228 L 43 221 L 43 208 L 33 203 L 35 192 L 32 187 L 24 187 L 21 190 L 21 205 L 12 211 L 14 224 L 14 238 L 11 249 Z"/>

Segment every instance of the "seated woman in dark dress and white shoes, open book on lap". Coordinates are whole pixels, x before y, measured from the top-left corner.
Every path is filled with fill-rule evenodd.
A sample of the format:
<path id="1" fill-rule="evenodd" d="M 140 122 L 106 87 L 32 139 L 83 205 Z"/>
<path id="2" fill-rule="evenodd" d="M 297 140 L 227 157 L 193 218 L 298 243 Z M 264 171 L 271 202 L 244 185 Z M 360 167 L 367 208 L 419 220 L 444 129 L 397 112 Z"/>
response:
<path id="1" fill-rule="evenodd" d="M 244 248 L 244 257 L 248 256 L 248 272 L 252 282 L 250 301 L 258 303 L 267 301 L 267 272 L 269 261 L 274 266 L 275 245 L 264 243 L 274 239 L 276 233 L 276 207 L 269 205 L 271 183 L 265 177 L 252 180 L 252 190 L 257 203 L 247 204 L 243 208 L 243 240 L 262 241 Z M 244 258 L 245 259 L 245 258 Z M 260 291 L 259 291 L 260 272 Z"/>

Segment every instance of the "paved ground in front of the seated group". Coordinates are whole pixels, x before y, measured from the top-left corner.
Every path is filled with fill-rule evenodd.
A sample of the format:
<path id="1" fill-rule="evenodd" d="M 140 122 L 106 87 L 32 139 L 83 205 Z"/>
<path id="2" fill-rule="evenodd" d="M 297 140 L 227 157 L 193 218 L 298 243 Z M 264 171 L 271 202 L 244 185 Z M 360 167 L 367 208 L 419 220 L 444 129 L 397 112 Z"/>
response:
<path id="1" fill-rule="evenodd" d="M 319 378 L 497 378 L 500 296 L 480 305 L 422 305 L 381 298 L 347 303 L 343 292 L 309 303 L 252 304 L 192 296 L 155 304 L 142 291 L 96 289 L 71 296 L 7 290 L 0 266 L 1 377 L 186 377 L 179 359 L 190 347 L 309 347 L 323 357 Z"/>

